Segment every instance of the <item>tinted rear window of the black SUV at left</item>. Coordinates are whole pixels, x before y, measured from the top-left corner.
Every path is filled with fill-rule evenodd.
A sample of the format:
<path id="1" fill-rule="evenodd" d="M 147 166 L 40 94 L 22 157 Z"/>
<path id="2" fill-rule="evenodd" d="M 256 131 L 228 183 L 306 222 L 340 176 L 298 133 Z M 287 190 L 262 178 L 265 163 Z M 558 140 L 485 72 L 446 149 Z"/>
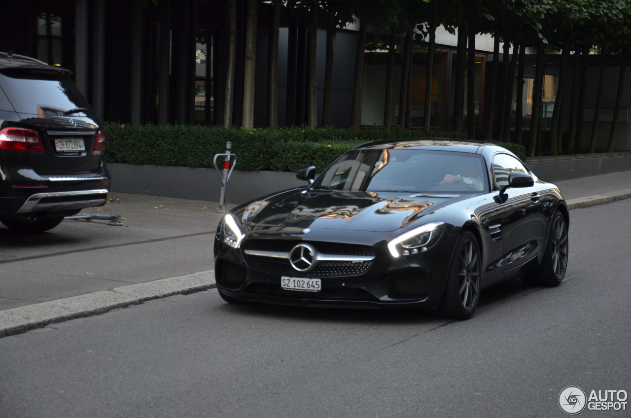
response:
<path id="1" fill-rule="evenodd" d="M 11 68 L 0 71 L 0 87 L 17 112 L 40 116 L 87 116 L 73 109 L 90 109 L 65 73 Z"/>

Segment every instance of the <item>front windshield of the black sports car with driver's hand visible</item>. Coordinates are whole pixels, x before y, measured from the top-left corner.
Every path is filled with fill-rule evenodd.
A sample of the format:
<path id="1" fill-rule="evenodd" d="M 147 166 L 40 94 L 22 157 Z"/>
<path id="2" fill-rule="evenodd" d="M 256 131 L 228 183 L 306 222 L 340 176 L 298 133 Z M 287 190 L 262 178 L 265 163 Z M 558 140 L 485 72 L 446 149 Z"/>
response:
<path id="1" fill-rule="evenodd" d="M 353 150 L 314 184 L 343 191 L 488 193 L 481 155 L 417 149 Z"/>

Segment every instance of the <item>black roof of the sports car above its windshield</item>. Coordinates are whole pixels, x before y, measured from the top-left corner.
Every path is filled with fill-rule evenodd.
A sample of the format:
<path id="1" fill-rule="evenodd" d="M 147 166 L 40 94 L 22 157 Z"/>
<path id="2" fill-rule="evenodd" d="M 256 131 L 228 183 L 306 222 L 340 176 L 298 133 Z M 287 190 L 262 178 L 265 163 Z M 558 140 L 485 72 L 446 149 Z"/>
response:
<path id="1" fill-rule="evenodd" d="M 365 150 L 385 150 L 389 148 L 422 148 L 432 151 L 455 151 L 480 153 L 481 148 L 494 146 L 493 144 L 480 143 L 476 141 L 451 140 L 449 138 L 400 138 L 396 140 L 374 141 L 357 146 L 355 149 Z"/>

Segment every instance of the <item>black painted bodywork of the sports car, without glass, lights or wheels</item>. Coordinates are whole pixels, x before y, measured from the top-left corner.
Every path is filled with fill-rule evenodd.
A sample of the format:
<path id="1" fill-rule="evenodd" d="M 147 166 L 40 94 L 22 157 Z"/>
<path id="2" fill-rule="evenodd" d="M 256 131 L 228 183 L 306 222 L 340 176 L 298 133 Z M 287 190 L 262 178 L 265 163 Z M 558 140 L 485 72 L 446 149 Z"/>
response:
<path id="1" fill-rule="evenodd" d="M 505 153 L 514 157 L 499 146 L 466 141 L 380 141 L 359 148 L 388 149 L 394 146 L 478 153 L 484 158 L 489 184 L 493 184 L 493 156 Z M 339 242 L 372 246 L 376 258 L 367 272 L 321 277 L 323 289 L 360 289 L 369 297 L 362 300 L 326 297 L 324 292 L 322 296 L 302 292 L 303 297 L 300 297 L 301 292 L 255 294 L 250 291 L 253 289 L 251 285 L 278 287 L 281 275 L 252 268 L 245 262 L 244 244 L 239 249 L 230 248 L 221 241 L 219 229 L 215 239 L 216 272 L 221 272 L 226 263 L 232 263 L 244 268 L 247 277 L 236 288 L 222 285 L 218 277 L 218 288 L 223 294 L 244 301 L 276 304 L 435 308 L 442 299 L 457 238 L 467 229 L 474 232 L 480 244 L 484 266 L 482 287 L 520 277 L 526 269 L 536 268 L 542 262 L 553 212 L 561 210 L 568 218 L 567 206 L 557 186 L 537 179 L 532 172 L 529 174 L 534 184 L 523 187 L 521 179 L 520 187 L 506 188 L 503 195 L 495 187 L 490 193 L 419 196 L 399 192 L 328 191 L 305 186 L 265 196 L 230 212 L 245 233 L 244 243 L 255 239 L 282 239 L 293 240 L 296 244 Z M 387 242 L 408 230 L 437 221 L 445 222 L 447 227 L 435 248 L 427 253 L 391 256 Z M 305 233 L 305 229 L 309 231 Z M 406 271 L 427 278 L 425 294 L 406 296 L 392 292 L 390 278 L 394 273 Z M 293 276 L 301 277 L 298 272 Z"/>

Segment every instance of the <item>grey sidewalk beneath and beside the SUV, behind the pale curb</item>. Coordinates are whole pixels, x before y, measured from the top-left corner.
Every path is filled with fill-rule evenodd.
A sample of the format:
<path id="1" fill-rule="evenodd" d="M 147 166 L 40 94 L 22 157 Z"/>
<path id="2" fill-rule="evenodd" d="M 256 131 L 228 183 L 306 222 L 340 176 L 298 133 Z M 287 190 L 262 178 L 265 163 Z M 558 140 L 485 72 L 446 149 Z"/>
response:
<path id="1" fill-rule="evenodd" d="M 0 225 L 0 310 L 213 269 L 216 203 L 110 198 L 121 201 L 82 212 L 122 215 L 129 226 L 64 220 L 41 236 L 19 236 Z"/>

